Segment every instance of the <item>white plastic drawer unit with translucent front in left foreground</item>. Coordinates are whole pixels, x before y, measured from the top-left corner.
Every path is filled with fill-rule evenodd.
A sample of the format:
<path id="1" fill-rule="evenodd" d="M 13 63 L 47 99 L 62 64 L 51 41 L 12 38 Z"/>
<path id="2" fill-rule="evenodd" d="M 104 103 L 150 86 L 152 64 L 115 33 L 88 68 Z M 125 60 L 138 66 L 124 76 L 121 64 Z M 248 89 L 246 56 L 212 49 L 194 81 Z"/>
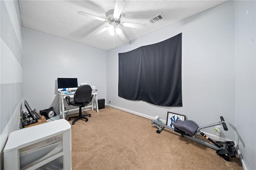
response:
<path id="1" fill-rule="evenodd" d="M 5 170 L 71 170 L 71 126 L 64 119 L 10 133 Z"/>

